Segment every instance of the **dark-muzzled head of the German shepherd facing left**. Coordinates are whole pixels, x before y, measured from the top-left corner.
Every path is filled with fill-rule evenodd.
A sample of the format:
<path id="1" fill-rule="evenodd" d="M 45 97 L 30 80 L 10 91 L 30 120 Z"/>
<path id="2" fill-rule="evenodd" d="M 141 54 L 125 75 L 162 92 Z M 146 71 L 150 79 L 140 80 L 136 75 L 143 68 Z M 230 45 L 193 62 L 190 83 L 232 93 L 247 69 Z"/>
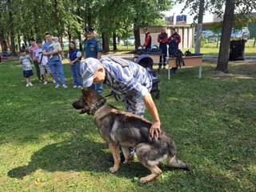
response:
<path id="1" fill-rule="evenodd" d="M 98 95 L 95 90 L 88 88 L 88 90 L 82 89 L 82 96 L 78 101 L 73 102 L 72 106 L 74 109 L 80 110 L 79 114 L 94 114 L 95 110 L 97 110 L 99 106 L 104 105 L 105 102 L 105 98 Z"/>

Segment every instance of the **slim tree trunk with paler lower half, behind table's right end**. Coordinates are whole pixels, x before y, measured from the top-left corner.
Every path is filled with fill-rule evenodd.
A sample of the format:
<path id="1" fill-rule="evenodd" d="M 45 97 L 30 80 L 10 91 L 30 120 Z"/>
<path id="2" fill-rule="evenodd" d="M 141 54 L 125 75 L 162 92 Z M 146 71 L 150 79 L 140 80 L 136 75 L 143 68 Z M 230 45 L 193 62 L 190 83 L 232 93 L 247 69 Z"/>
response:
<path id="1" fill-rule="evenodd" d="M 200 5 L 199 5 L 199 14 L 198 14 L 198 26 L 197 26 L 197 39 L 195 42 L 195 50 L 194 52 L 196 54 L 200 54 L 200 48 L 201 48 L 201 39 L 202 39 L 202 18 L 204 14 L 204 5 L 205 5 L 205 0 L 200 0 Z"/>

